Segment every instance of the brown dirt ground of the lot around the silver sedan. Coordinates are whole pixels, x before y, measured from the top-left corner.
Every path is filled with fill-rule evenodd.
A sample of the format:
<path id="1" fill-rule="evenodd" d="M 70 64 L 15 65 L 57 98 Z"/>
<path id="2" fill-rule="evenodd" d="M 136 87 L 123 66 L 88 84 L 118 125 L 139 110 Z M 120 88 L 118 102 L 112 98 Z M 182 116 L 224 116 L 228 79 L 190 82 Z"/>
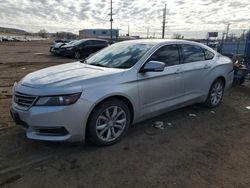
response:
<path id="1" fill-rule="evenodd" d="M 194 105 L 164 114 L 132 126 L 114 146 L 27 140 L 9 116 L 11 86 L 73 61 L 48 47 L 0 43 L 0 187 L 250 187 L 250 82 L 213 111 Z M 155 120 L 172 125 L 156 129 Z"/>

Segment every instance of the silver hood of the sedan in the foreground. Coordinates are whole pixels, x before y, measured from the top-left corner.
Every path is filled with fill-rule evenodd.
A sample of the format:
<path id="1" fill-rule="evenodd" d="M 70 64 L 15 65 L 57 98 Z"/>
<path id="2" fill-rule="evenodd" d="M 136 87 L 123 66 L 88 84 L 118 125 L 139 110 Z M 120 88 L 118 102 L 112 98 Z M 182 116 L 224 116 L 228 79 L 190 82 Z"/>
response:
<path id="1" fill-rule="evenodd" d="M 103 68 L 80 62 L 45 68 L 25 76 L 20 84 L 31 88 L 65 88 L 84 85 L 89 79 L 101 80 L 104 76 L 111 76 L 123 72 L 123 69 Z"/>

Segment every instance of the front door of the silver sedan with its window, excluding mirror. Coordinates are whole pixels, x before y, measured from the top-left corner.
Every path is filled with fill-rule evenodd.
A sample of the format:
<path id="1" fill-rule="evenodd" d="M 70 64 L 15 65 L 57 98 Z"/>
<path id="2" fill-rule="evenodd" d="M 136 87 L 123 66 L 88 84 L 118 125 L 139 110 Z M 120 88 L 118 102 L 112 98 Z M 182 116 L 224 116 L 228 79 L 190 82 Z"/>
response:
<path id="1" fill-rule="evenodd" d="M 157 114 L 182 102 L 184 92 L 179 48 L 177 45 L 160 47 L 146 61 L 165 63 L 162 72 L 138 73 L 141 115 Z M 154 112 L 154 113 L 153 113 Z"/>

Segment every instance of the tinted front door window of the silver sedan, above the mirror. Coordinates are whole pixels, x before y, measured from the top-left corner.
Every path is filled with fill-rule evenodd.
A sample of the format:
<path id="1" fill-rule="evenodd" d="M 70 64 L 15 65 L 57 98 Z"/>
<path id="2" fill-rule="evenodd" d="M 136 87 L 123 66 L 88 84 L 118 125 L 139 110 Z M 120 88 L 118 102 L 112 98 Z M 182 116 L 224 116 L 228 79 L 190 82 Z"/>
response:
<path id="1" fill-rule="evenodd" d="M 160 61 L 165 66 L 178 65 L 180 62 L 179 49 L 176 44 L 166 45 L 159 48 L 149 59 L 149 61 Z"/>

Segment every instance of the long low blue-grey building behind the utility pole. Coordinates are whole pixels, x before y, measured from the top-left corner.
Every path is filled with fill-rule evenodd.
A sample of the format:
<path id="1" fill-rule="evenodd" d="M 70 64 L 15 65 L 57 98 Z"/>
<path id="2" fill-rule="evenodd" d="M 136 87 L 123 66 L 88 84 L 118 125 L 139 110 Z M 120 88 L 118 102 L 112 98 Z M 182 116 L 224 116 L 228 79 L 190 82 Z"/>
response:
<path id="1" fill-rule="evenodd" d="M 111 34 L 110 29 L 83 29 L 79 31 L 79 38 L 103 38 L 109 39 Z M 113 39 L 118 39 L 119 29 L 112 29 Z"/>

